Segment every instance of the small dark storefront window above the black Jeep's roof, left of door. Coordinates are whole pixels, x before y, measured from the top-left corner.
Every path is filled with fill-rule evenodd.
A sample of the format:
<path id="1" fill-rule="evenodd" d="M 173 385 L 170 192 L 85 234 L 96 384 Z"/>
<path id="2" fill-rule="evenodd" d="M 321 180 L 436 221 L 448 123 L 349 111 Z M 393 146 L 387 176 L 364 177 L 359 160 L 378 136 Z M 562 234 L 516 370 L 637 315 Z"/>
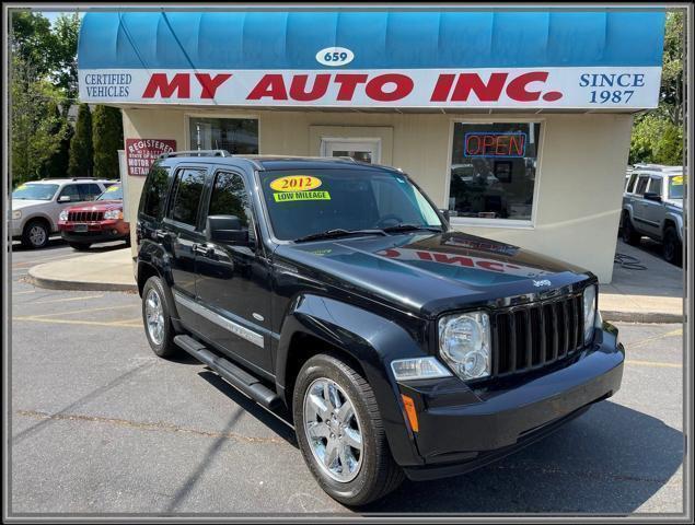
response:
<path id="1" fill-rule="evenodd" d="M 188 122 L 192 150 L 227 150 L 242 155 L 258 153 L 256 119 L 190 117 Z"/>

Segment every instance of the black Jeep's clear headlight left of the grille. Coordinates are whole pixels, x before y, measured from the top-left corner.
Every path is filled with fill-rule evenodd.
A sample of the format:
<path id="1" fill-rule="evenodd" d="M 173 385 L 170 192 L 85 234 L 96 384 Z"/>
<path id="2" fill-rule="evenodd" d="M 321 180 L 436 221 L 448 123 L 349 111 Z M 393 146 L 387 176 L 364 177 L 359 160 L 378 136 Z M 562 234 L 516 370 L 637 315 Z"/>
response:
<path id="1" fill-rule="evenodd" d="M 439 319 L 439 352 L 462 380 L 490 375 L 490 319 L 483 312 Z"/>

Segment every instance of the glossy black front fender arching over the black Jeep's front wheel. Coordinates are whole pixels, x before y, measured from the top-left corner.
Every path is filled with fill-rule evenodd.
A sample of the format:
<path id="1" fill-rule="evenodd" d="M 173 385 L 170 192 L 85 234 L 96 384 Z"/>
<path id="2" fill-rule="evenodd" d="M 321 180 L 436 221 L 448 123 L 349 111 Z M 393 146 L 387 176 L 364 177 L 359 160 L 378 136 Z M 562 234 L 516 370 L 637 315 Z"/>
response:
<path id="1" fill-rule="evenodd" d="M 292 359 L 290 343 L 297 334 L 316 337 L 361 364 L 394 459 L 398 465 L 421 465 L 390 366 L 393 359 L 424 354 L 409 334 L 394 322 L 340 301 L 318 295 L 297 298 L 282 324 L 276 359 L 277 392 L 286 401 L 291 396 L 285 392 L 287 364 Z"/>

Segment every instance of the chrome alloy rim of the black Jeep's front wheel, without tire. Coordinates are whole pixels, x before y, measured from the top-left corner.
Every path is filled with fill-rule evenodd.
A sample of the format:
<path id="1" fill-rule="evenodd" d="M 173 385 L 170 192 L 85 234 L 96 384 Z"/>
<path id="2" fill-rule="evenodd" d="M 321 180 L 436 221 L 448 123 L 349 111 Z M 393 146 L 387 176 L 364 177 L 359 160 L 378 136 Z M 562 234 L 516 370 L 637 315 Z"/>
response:
<path id="1" fill-rule="evenodd" d="M 304 435 L 321 469 L 354 480 L 362 466 L 362 430 L 351 399 L 335 381 L 315 380 L 304 394 Z"/>

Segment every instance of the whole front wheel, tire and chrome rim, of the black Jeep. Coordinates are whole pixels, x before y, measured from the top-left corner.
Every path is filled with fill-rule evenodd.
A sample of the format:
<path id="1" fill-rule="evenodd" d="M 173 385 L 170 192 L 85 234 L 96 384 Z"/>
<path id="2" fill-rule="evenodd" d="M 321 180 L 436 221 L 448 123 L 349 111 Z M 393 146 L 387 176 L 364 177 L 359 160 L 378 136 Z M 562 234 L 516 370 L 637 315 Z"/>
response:
<path id="1" fill-rule="evenodd" d="M 297 377 L 292 410 L 304 460 L 333 499 L 364 505 L 403 481 L 374 393 L 345 361 L 327 354 L 306 361 Z"/>

